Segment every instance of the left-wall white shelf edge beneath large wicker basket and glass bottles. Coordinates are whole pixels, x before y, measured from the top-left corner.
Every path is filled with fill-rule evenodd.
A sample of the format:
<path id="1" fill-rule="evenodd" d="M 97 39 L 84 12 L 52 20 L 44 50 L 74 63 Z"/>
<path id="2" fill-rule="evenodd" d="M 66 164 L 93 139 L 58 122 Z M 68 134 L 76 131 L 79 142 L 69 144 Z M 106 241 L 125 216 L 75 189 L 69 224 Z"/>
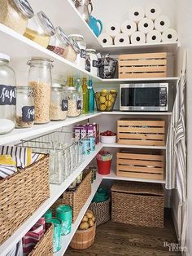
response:
<path id="1" fill-rule="evenodd" d="M 103 148 L 103 145 L 99 143 L 96 146 L 95 151 L 85 157 L 85 161 L 76 168 L 76 170 L 66 179 L 61 185 L 50 185 L 50 198 L 47 199 L 36 211 L 35 213 L 29 217 L 16 231 L 13 235 L 7 239 L 1 246 L 0 246 L 0 255 L 5 256 L 8 254 L 10 249 L 18 242 L 20 239 L 28 232 L 28 230 L 33 227 L 33 225 L 37 222 L 39 218 L 43 214 L 46 213 L 46 210 L 50 208 L 51 205 L 55 203 L 55 201 L 62 195 L 62 193 L 68 188 L 68 186 L 72 183 L 74 179 L 81 173 L 82 170 L 85 169 L 86 166 L 89 165 L 89 162 L 94 159 L 97 153 Z M 98 186 L 100 182 L 98 180 Z M 97 189 L 95 190 L 95 192 Z M 81 217 L 80 217 L 81 218 Z"/>

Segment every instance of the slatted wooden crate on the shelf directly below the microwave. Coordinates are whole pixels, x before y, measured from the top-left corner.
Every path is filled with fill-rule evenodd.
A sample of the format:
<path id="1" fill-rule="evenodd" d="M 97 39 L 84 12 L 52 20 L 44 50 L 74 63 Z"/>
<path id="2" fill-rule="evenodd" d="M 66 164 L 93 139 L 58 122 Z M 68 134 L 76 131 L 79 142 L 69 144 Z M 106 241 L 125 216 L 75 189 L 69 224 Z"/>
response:
<path id="1" fill-rule="evenodd" d="M 164 146 L 165 121 L 118 120 L 117 143 L 129 145 Z"/>

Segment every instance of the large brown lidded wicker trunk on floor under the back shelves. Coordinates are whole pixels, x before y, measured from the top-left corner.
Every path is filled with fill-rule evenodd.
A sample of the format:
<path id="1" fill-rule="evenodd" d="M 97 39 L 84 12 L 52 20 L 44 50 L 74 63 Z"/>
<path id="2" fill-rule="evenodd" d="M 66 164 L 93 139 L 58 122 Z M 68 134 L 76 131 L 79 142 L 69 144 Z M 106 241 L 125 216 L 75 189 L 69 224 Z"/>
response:
<path id="1" fill-rule="evenodd" d="M 113 222 L 164 227 L 164 190 L 160 184 L 117 182 L 111 196 Z"/>

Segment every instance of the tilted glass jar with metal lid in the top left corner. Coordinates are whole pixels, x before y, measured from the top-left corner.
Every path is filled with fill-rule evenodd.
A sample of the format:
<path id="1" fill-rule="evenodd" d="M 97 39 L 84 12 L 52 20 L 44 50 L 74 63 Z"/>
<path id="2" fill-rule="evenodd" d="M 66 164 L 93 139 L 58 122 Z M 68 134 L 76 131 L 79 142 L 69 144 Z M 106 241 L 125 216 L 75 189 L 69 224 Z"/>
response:
<path id="1" fill-rule="evenodd" d="M 0 0 L 0 23 L 24 34 L 33 9 L 27 0 Z"/>

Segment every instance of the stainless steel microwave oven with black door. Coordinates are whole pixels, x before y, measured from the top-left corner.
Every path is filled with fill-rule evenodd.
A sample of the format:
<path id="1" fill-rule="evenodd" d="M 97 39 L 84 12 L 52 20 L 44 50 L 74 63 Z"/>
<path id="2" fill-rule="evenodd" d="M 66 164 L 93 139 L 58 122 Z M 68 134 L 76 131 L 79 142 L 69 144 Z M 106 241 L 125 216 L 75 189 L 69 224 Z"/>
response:
<path id="1" fill-rule="evenodd" d="M 121 84 L 120 110 L 168 111 L 168 83 Z"/>

